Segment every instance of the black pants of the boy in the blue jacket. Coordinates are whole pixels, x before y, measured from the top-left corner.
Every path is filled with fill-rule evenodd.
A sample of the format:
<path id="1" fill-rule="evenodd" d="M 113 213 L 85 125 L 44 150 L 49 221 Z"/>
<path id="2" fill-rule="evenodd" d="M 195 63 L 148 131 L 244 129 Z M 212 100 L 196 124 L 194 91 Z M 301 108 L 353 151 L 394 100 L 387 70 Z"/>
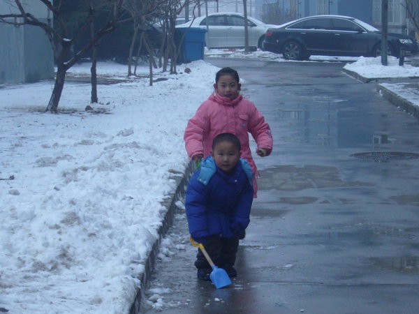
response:
<path id="1" fill-rule="evenodd" d="M 216 267 L 234 266 L 237 248 L 239 247 L 239 237 L 220 238 L 211 236 L 208 237 L 204 247 Z M 196 255 L 195 267 L 198 269 L 211 268 L 199 248 L 198 254 Z"/>

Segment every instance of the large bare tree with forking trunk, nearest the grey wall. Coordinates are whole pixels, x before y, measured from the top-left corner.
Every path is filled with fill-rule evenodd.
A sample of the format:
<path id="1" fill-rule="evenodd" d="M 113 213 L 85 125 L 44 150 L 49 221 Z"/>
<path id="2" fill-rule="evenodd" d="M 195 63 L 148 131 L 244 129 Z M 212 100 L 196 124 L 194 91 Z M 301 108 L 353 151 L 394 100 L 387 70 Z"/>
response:
<path id="1" fill-rule="evenodd" d="M 56 113 L 61 93 L 64 88 L 67 70 L 76 62 L 80 61 L 84 54 L 94 47 L 94 45 L 97 45 L 98 41 L 106 33 L 113 31 L 117 27 L 117 23 L 122 15 L 121 8 L 124 0 L 102 0 L 103 3 L 107 3 L 110 7 L 110 17 L 108 21 L 97 31 L 94 29 L 92 30 L 92 20 L 94 19 L 94 7 L 92 6 L 92 1 L 88 1 L 86 3 L 86 20 L 77 29 L 70 29 L 68 24 L 66 24 L 61 12 L 61 1 L 38 1 L 41 1 L 47 10 L 50 10 L 50 12 L 54 15 L 54 20 L 58 23 L 57 27 L 52 27 L 50 24 L 38 20 L 32 13 L 27 11 L 27 9 L 22 6 L 21 0 L 10 1 L 15 3 L 19 13 L 0 15 L 0 22 L 14 25 L 29 24 L 41 27 L 41 29 L 45 31 L 48 39 L 50 40 L 52 50 L 54 51 L 55 62 L 57 64 L 57 76 L 55 78 L 54 89 L 52 90 L 52 95 L 45 112 L 49 111 Z M 78 52 L 72 54 L 71 51 L 73 50 L 74 44 L 80 40 L 84 33 L 89 31 L 91 31 L 91 38 L 89 42 L 82 46 Z"/>

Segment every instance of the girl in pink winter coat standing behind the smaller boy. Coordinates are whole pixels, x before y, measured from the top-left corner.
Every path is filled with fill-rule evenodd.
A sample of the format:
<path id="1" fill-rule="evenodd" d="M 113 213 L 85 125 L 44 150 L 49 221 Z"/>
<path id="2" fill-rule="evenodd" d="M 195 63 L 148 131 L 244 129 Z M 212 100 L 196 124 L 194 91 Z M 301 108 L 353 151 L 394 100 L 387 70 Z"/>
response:
<path id="1" fill-rule="evenodd" d="M 188 121 L 184 140 L 188 156 L 195 163 L 211 153 L 212 140 L 220 133 L 233 133 L 242 144 L 242 158 L 253 171 L 253 190 L 256 197 L 258 171 L 251 157 L 249 134 L 256 140 L 258 156 L 268 156 L 272 151 L 272 134 L 265 118 L 256 106 L 240 95 L 239 75 L 232 68 L 222 68 L 216 73 L 214 93 L 205 100 L 195 116 Z"/>

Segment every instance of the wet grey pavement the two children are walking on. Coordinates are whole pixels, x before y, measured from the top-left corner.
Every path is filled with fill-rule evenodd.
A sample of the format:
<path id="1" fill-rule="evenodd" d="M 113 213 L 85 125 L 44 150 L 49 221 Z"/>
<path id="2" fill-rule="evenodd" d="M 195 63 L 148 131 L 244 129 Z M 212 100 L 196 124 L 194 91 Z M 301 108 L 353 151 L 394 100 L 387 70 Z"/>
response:
<path id="1" fill-rule="evenodd" d="M 233 285 L 198 281 L 180 208 L 141 312 L 417 313 L 419 159 L 397 157 L 419 153 L 418 119 L 344 63 L 207 61 L 238 70 L 274 152 Z"/>

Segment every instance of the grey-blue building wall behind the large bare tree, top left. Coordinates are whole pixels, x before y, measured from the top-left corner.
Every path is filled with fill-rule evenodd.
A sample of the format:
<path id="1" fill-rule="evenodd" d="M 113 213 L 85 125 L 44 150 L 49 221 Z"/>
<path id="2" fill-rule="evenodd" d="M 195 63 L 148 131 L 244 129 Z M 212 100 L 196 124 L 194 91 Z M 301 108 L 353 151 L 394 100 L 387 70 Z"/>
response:
<path id="1" fill-rule="evenodd" d="M 47 9 L 41 1 L 23 2 L 29 12 L 47 22 Z M 18 13 L 0 1 L 0 13 Z M 40 27 L 0 23 L 0 84 L 38 82 L 54 78 L 54 54 L 50 41 Z"/>

